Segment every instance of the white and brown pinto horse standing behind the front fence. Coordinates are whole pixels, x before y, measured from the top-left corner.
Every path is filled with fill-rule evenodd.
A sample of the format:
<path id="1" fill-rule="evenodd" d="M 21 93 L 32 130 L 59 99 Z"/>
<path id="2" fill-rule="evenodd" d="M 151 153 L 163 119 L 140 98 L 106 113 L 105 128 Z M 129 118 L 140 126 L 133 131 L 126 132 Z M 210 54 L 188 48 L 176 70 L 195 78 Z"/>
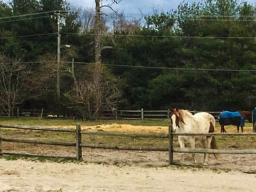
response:
<path id="1" fill-rule="evenodd" d="M 215 118 L 209 113 L 200 112 L 192 115 L 188 110 L 170 109 L 171 126 L 177 133 L 212 133 L 215 129 Z M 185 148 L 185 141 L 190 143 L 191 148 L 195 148 L 196 139 L 200 139 L 205 148 L 217 149 L 216 140 L 213 136 L 178 136 L 180 148 Z M 214 154 L 218 160 L 218 155 Z M 195 154 L 192 154 L 194 163 L 196 163 Z M 209 154 L 204 154 L 204 165 L 208 164 Z M 181 158 L 184 162 L 184 154 Z"/>

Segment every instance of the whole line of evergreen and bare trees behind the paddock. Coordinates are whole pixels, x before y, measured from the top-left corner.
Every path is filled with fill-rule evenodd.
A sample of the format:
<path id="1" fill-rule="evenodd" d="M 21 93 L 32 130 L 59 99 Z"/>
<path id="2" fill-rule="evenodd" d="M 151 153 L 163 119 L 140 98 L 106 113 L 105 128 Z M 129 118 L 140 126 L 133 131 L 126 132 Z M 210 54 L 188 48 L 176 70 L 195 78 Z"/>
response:
<path id="1" fill-rule="evenodd" d="M 254 108 L 254 6 L 182 2 L 131 19 L 112 8 L 118 3 L 96 0 L 90 10 L 65 0 L 0 1 L 2 110 L 12 116 L 16 107 L 45 108 L 97 119 L 117 108 Z"/>

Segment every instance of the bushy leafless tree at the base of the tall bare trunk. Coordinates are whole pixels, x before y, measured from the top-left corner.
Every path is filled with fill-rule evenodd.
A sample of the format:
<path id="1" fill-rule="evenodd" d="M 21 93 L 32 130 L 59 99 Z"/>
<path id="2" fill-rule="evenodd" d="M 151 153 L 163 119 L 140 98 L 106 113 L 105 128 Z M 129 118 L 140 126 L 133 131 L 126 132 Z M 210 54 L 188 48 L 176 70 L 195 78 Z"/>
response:
<path id="1" fill-rule="evenodd" d="M 66 94 L 70 100 L 70 108 L 78 112 L 83 119 L 97 119 L 100 112 L 116 108 L 120 101 L 119 80 L 101 63 L 86 66 L 84 78 L 76 80 L 74 87 Z"/>

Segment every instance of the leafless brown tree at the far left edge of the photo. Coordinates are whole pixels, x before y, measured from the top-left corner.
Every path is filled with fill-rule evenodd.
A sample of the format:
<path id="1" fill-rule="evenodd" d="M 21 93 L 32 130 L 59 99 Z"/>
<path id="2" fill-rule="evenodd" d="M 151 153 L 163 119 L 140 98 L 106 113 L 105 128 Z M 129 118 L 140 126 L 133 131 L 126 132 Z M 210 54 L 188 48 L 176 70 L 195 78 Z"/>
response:
<path id="1" fill-rule="evenodd" d="M 0 75 L 0 106 L 10 117 L 14 107 L 27 98 L 30 70 L 20 64 L 20 60 L 12 60 L 1 53 Z"/>

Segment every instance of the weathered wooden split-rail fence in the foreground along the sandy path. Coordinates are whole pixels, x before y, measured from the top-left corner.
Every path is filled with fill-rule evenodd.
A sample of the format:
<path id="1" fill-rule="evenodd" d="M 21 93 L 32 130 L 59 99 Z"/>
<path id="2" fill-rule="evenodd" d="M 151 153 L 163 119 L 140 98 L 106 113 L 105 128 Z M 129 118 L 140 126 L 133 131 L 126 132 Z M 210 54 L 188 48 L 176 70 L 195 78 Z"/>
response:
<path id="1" fill-rule="evenodd" d="M 256 133 L 207 133 L 207 134 L 178 134 L 172 132 L 172 127 L 169 126 L 168 134 L 130 134 L 130 133 L 114 133 L 114 132 L 95 132 L 82 131 L 80 124 L 77 124 L 76 129 L 66 128 L 46 128 L 46 127 L 29 127 L 19 125 L 0 125 L 0 128 L 10 129 L 24 129 L 24 130 L 40 130 L 40 131 L 54 131 L 54 132 L 70 132 L 76 134 L 76 142 L 52 142 L 52 141 L 36 141 L 36 140 L 20 140 L 8 139 L 1 137 L 0 129 L 0 155 L 27 155 L 22 153 L 8 153 L 3 152 L 2 142 L 16 142 L 28 144 L 43 144 L 43 145 L 58 145 L 58 146 L 73 146 L 76 147 L 76 159 L 82 159 L 82 148 L 101 148 L 114 150 L 141 150 L 141 151 L 168 151 L 169 164 L 174 164 L 174 152 L 178 153 L 220 153 L 220 154 L 256 154 L 256 149 L 244 150 L 226 150 L 226 149 L 205 149 L 205 148 L 174 148 L 174 136 L 256 136 Z M 168 138 L 168 148 L 151 148 L 151 147 L 124 147 L 124 146 L 102 146 L 82 143 L 82 134 L 87 135 L 102 135 L 102 136 L 124 136 L 135 138 Z M 29 154 L 33 155 L 33 154 Z"/>

